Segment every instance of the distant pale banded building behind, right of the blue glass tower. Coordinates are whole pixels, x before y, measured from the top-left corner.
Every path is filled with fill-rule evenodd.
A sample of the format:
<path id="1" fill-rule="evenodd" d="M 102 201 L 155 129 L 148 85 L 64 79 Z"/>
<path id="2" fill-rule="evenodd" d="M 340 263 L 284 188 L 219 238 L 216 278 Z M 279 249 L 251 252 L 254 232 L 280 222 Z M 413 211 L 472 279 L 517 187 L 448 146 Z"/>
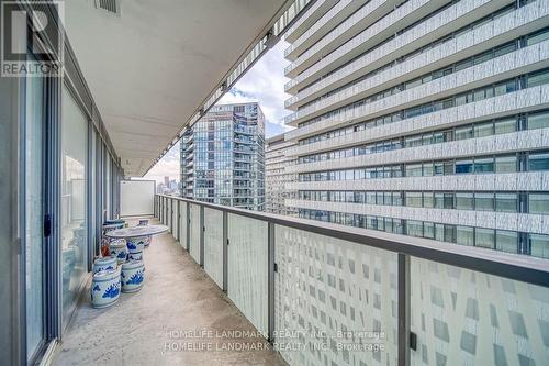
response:
<path id="1" fill-rule="evenodd" d="M 285 206 L 287 199 L 295 198 L 295 191 L 288 189 L 289 182 L 295 181 L 295 173 L 285 168 L 295 164 L 295 158 L 285 152 L 294 145 L 284 141 L 284 134 L 266 140 L 265 148 L 265 211 L 278 214 L 295 215 L 296 211 Z"/>

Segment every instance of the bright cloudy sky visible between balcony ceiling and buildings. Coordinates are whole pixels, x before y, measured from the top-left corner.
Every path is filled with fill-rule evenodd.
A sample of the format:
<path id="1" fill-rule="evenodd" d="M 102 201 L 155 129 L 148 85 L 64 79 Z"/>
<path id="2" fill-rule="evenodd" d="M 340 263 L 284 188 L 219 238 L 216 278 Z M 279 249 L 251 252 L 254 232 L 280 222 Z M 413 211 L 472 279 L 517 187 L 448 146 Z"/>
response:
<path id="1" fill-rule="evenodd" d="M 288 131 L 283 118 L 289 113 L 284 110 L 284 100 L 290 96 L 284 93 L 284 59 L 288 43 L 280 41 L 272 49 L 261 57 L 240 80 L 221 98 L 219 104 L 257 101 L 264 111 L 266 137 Z M 183 123 L 183 121 L 181 121 Z M 177 143 L 145 176 L 147 179 L 164 181 L 164 177 L 179 180 L 179 143 Z"/>

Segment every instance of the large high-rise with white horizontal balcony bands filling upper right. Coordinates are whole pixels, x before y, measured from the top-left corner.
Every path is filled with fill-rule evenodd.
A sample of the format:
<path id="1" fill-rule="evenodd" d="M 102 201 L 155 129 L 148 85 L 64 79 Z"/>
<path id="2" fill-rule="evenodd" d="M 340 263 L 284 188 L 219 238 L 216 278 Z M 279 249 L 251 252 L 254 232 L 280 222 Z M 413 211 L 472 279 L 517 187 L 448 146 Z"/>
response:
<path id="1" fill-rule="evenodd" d="M 301 218 L 549 257 L 549 3 L 341 0 L 288 40 Z"/>

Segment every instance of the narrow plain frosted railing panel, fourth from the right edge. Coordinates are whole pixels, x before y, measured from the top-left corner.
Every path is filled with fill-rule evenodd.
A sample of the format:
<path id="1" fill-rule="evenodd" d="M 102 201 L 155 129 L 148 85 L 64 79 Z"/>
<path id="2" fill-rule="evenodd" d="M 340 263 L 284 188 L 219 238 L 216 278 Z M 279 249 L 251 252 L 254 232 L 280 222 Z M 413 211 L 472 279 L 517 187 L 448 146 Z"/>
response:
<path id="1" fill-rule="evenodd" d="M 204 270 L 223 288 L 223 212 L 204 208 Z"/>

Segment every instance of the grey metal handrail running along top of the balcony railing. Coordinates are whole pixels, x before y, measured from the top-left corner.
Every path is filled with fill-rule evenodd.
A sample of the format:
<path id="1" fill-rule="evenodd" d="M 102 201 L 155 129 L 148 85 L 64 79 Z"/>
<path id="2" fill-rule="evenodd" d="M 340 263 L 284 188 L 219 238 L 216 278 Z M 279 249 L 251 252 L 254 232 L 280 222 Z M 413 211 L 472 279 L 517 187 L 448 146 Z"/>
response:
<path id="1" fill-rule="evenodd" d="M 187 198 L 156 195 L 192 204 L 234 213 L 271 224 L 303 230 L 338 240 L 367 245 L 384 251 L 410 255 L 422 259 L 467 268 L 489 275 L 549 287 L 549 260 L 530 256 L 508 254 L 479 247 L 442 243 L 424 237 L 379 232 L 369 229 L 298 219 L 274 213 L 237 209 L 228 206 L 202 202 Z"/>

